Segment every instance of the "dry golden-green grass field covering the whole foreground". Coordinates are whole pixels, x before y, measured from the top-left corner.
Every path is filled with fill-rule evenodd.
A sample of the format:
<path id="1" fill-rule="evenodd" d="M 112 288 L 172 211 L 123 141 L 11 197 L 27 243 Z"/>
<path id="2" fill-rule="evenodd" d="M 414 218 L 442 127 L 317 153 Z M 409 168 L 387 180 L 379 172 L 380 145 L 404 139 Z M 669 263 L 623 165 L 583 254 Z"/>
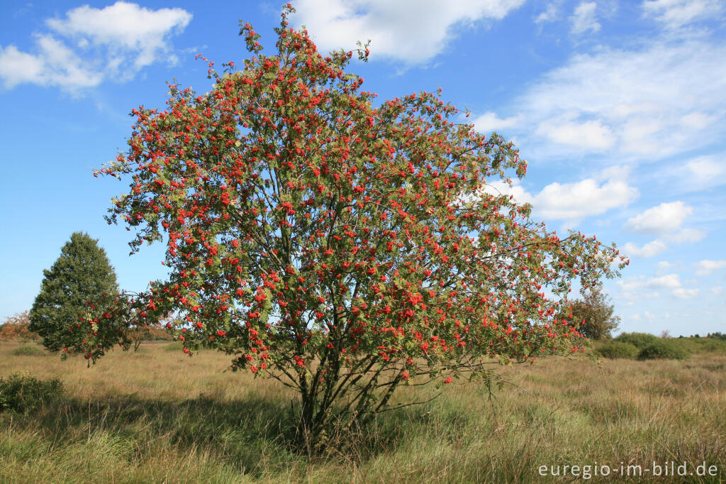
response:
<path id="1" fill-rule="evenodd" d="M 89 369 L 83 358 L 14 355 L 17 344 L 0 344 L 0 377 L 29 371 L 65 385 L 65 398 L 40 411 L 0 414 L 0 483 L 571 482 L 587 480 L 582 468 L 542 477 L 539 466 L 561 474 L 596 462 L 640 465 L 643 475 L 632 467 L 636 475 L 591 482 L 726 482 L 724 353 L 502 367 L 512 384 L 492 400 L 483 385 L 454 381 L 431 403 L 381 415 L 350 451 L 309 460 L 280 437 L 294 396 L 285 387 L 224 372 L 225 355 L 188 358 L 168 346 L 115 351 Z M 652 477 L 653 461 L 718 471 Z"/>

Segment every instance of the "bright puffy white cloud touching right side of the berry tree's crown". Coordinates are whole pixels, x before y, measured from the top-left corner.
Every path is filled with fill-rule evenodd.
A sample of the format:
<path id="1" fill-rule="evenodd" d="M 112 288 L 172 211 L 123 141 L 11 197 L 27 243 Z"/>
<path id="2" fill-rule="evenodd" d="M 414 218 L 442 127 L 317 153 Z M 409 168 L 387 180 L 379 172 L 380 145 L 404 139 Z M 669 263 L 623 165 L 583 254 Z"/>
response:
<path id="1" fill-rule="evenodd" d="M 550 183 L 539 193 L 531 194 L 515 182 L 510 187 L 503 182 L 494 182 L 487 190 L 490 193 L 514 195 L 519 203 L 531 203 L 534 216 L 550 220 L 561 219 L 578 222 L 584 217 L 599 215 L 617 207 L 628 206 L 639 193 L 624 180 L 622 169 L 608 169 L 605 180 L 587 178 L 573 183 Z"/>

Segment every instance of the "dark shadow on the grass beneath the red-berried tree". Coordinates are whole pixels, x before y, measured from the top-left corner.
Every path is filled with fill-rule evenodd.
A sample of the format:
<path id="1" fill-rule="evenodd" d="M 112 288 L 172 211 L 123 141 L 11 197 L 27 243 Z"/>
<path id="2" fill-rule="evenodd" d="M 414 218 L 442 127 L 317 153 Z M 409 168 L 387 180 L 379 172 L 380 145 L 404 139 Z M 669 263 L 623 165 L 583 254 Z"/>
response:
<path id="1" fill-rule="evenodd" d="M 171 447 L 181 454 L 208 453 L 230 467 L 261 477 L 270 470 L 305 467 L 311 460 L 362 464 L 395 449 L 426 424 L 425 419 L 417 418 L 425 411 L 389 412 L 366 429 L 335 435 L 324 456 L 308 456 L 295 451 L 293 445 L 294 411 L 289 398 L 261 398 L 253 393 L 237 400 L 215 394 L 190 400 L 137 395 L 92 400 L 71 397 L 33 414 L 14 416 L 12 429 L 40 430 L 42 438 L 54 446 L 86 443 L 99 433 L 113 435 L 136 464 L 154 457 L 160 448 Z M 0 416 L 0 427 L 5 426 Z"/>

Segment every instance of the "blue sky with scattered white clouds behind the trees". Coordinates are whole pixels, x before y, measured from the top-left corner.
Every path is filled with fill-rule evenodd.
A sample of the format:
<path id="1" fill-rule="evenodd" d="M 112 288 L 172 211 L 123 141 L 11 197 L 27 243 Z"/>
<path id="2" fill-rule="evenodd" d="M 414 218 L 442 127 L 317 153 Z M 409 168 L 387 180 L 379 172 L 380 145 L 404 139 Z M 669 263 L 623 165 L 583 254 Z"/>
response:
<path id="1" fill-rule="evenodd" d="M 529 161 L 510 190 L 551 229 L 614 241 L 607 281 L 623 331 L 726 331 L 726 4 L 718 0 L 300 0 L 321 50 L 380 100 L 443 89 L 481 132 Z M 445 7 L 444 7 L 445 6 Z M 123 289 L 164 274 L 161 246 L 129 257 L 103 216 L 127 185 L 91 170 L 161 108 L 166 81 L 205 92 L 202 53 L 246 56 L 238 20 L 272 48 L 280 4 L 13 2 L 0 18 L 0 320 L 29 309 L 70 234 L 99 238 Z"/>

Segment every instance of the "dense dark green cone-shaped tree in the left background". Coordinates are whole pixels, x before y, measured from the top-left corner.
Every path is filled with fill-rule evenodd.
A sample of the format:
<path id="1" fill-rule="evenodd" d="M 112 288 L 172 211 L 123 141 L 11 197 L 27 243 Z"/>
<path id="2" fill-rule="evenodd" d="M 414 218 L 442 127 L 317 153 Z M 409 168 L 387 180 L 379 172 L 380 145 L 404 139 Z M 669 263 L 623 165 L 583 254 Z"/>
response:
<path id="1" fill-rule="evenodd" d="M 102 354 L 117 342 L 128 344 L 116 274 L 97 240 L 86 233 L 73 233 L 60 257 L 43 273 L 40 294 L 30 310 L 30 331 L 43 338 L 46 349 L 82 351 L 90 358 L 88 347 Z M 99 331 L 101 319 L 104 323 Z M 92 343 L 86 338 L 89 320 Z"/>

